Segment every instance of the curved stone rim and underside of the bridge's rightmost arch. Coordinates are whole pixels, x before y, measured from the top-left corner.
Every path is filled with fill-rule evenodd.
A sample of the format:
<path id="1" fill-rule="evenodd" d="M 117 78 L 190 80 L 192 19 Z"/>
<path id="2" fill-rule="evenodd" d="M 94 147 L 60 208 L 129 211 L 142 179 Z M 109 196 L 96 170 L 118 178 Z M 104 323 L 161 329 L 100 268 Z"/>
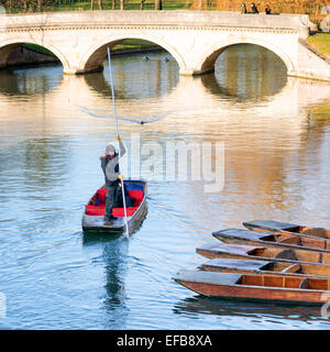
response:
<path id="1" fill-rule="evenodd" d="M 219 55 L 224 52 L 229 46 L 231 45 L 237 45 L 237 44 L 253 44 L 257 46 L 262 46 L 264 48 L 267 48 L 268 51 L 273 52 L 276 54 L 285 64 L 287 68 L 287 74 L 292 75 L 296 73 L 296 68 L 289 58 L 288 55 L 286 55 L 279 47 L 276 45 L 264 42 L 261 40 L 256 38 L 242 38 L 242 37 L 235 37 L 235 38 L 229 38 L 227 41 L 222 41 L 220 43 L 213 44 L 210 47 L 208 47 L 205 51 L 205 54 L 200 57 L 199 62 L 197 63 L 197 67 L 199 67 L 199 72 L 202 73 L 208 73 L 208 72 L 213 72 L 215 70 L 215 63 Z"/>

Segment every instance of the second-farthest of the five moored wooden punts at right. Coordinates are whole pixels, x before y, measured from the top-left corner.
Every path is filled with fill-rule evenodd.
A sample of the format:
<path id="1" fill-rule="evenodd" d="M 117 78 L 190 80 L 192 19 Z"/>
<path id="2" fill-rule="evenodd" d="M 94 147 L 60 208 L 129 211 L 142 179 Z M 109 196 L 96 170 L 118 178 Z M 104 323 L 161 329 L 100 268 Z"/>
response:
<path id="1" fill-rule="evenodd" d="M 296 249 L 330 253 L 330 240 L 292 233 L 270 233 L 244 229 L 216 231 L 212 235 L 224 243 L 265 245 L 271 248 Z"/>

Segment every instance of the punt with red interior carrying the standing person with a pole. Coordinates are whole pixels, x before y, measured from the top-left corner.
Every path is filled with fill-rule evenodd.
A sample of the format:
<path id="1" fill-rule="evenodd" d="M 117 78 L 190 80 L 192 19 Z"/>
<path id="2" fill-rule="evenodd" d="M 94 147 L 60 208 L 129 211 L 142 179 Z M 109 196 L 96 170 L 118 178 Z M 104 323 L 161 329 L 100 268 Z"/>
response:
<path id="1" fill-rule="evenodd" d="M 128 194 L 135 198 L 134 205 L 127 208 L 129 232 L 134 232 L 146 215 L 146 183 L 144 180 L 125 179 L 124 187 Z M 124 209 L 114 208 L 112 215 L 117 217 L 111 224 L 105 223 L 107 188 L 102 186 L 90 198 L 82 216 L 82 230 L 85 232 L 101 232 L 118 234 L 125 231 Z"/>

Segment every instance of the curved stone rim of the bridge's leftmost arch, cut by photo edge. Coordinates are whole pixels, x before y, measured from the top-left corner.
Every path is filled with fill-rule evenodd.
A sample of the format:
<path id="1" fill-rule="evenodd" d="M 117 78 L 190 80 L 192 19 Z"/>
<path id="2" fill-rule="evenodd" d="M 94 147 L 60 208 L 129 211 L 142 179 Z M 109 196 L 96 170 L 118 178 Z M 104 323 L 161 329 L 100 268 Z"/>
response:
<path id="1" fill-rule="evenodd" d="M 54 45 L 46 43 L 44 41 L 37 41 L 31 37 L 15 37 L 9 41 L 1 41 L 0 42 L 0 68 L 7 66 L 7 61 L 10 55 L 10 53 L 18 46 L 22 44 L 36 44 L 38 46 L 42 46 L 50 52 L 52 52 L 62 63 L 64 70 L 66 70 L 69 67 L 69 63 L 65 55 Z"/>

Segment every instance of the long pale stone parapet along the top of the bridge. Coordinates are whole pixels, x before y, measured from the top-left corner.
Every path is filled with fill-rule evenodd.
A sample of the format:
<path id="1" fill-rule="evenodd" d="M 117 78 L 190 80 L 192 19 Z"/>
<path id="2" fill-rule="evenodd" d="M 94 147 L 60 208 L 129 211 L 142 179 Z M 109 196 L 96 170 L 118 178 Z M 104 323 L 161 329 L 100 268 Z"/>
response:
<path id="1" fill-rule="evenodd" d="M 1 19 L 2 15 L 0 15 Z M 0 20 L 1 21 L 1 20 Z M 229 26 L 274 30 L 315 28 L 307 14 L 241 14 L 226 11 L 72 11 L 30 14 L 6 14 L 8 30 L 35 26 L 108 26 L 108 25 L 176 25 Z"/>

